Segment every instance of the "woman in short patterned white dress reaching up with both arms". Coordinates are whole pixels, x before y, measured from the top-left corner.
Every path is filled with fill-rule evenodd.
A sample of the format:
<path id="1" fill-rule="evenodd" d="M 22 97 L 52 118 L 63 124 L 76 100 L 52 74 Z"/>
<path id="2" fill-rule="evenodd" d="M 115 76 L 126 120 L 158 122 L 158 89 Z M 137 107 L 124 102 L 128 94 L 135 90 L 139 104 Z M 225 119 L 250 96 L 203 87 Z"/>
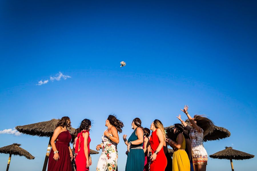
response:
<path id="1" fill-rule="evenodd" d="M 192 118 L 188 114 L 188 106 L 185 105 L 184 109 L 180 109 L 183 111 L 190 121 L 190 128 L 182 119 L 181 115 L 177 118 L 181 121 L 181 123 L 190 130 L 190 139 L 191 139 L 191 146 L 192 146 L 192 160 L 194 171 L 205 171 L 208 154 L 203 145 L 204 136 L 212 133 L 214 130 L 214 123 L 212 120 L 208 119 L 207 117 L 203 117 L 202 115 L 194 115 Z"/>

